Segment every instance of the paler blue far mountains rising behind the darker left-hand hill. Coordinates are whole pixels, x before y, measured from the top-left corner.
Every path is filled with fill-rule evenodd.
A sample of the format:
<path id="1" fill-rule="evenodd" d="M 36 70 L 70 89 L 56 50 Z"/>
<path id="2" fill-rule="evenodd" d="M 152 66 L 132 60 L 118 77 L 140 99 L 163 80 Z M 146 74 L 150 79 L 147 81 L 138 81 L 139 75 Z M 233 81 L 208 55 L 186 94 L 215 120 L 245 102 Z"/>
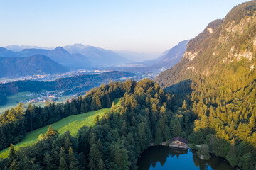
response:
<path id="1" fill-rule="evenodd" d="M 99 47 L 85 46 L 82 44 L 56 47 L 53 50 L 43 49 L 42 47 L 23 49 L 23 47 L 9 45 L 0 47 L 0 57 L 28 57 L 32 55 L 46 55 L 50 59 L 63 64 L 70 69 L 87 69 L 92 67 L 110 67 L 116 64 L 132 62 L 125 57 L 121 57 L 112 50 L 105 50 Z M 14 51 L 11 51 L 11 50 Z"/>

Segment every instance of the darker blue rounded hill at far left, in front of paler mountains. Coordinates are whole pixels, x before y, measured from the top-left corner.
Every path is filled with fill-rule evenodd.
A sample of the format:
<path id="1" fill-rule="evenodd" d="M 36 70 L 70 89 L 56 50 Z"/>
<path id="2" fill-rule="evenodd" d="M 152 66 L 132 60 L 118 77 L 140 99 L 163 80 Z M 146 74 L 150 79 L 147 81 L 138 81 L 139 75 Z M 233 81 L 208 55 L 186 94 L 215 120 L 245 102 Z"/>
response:
<path id="1" fill-rule="evenodd" d="M 0 77 L 23 77 L 33 74 L 58 74 L 69 70 L 44 55 L 0 57 Z"/>

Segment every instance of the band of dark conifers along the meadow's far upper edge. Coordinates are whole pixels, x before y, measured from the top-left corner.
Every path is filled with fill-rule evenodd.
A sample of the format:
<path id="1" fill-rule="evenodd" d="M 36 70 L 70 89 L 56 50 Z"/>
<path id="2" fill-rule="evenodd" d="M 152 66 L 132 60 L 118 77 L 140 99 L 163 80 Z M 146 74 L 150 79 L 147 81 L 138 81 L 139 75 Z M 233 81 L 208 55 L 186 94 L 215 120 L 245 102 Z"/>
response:
<path id="1" fill-rule="evenodd" d="M 110 108 L 114 98 L 119 98 L 126 92 L 132 93 L 134 86 L 135 81 L 110 81 L 110 84 L 102 84 L 71 102 L 46 103 L 43 108 L 29 104 L 26 111 L 23 111 L 23 105 L 20 103 L 15 109 L 6 110 L 0 115 L 0 149 L 21 141 L 26 132 L 50 125 L 69 115 Z"/>

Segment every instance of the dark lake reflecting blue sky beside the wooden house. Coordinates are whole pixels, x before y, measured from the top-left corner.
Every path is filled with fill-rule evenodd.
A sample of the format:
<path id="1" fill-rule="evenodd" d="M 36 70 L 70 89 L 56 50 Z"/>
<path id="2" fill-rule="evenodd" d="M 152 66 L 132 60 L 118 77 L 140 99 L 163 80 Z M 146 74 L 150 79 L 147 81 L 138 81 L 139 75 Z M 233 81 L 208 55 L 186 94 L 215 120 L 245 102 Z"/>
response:
<path id="1" fill-rule="evenodd" d="M 222 157 L 211 158 L 203 161 L 193 153 L 191 149 L 174 149 L 171 147 L 149 147 L 144 151 L 137 162 L 139 170 L 185 170 L 185 169 L 201 169 L 201 170 L 234 170 L 228 162 Z"/>

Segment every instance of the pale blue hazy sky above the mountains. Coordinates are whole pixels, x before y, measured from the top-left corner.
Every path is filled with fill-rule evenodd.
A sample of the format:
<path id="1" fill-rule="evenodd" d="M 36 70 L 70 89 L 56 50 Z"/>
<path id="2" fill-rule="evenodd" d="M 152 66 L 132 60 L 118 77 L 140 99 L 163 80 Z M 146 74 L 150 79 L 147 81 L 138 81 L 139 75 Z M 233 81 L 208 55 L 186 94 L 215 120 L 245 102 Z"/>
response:
<path id="1" fill-rule="evenodd" d="M 0 46 L 82 43 L 161 53 L 242 0 L 0 0 Z"/>

